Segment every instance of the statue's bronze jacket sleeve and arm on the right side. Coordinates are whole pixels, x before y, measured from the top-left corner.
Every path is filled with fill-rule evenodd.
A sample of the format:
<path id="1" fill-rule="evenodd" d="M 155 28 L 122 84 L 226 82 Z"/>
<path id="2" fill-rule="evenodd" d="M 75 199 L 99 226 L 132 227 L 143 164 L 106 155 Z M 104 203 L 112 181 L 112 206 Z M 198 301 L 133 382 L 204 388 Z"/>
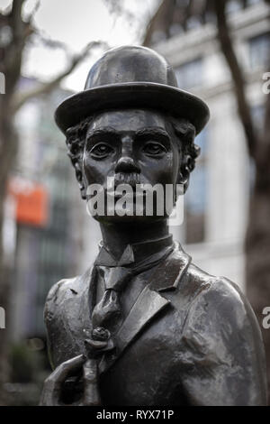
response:
<path id="1" fill-rule="evenodd" d="M 192 405 L 265 405 L 266 362 L 254 312 L 238 287 L 213 281 L 189 310 L 182 385 Z"/>

